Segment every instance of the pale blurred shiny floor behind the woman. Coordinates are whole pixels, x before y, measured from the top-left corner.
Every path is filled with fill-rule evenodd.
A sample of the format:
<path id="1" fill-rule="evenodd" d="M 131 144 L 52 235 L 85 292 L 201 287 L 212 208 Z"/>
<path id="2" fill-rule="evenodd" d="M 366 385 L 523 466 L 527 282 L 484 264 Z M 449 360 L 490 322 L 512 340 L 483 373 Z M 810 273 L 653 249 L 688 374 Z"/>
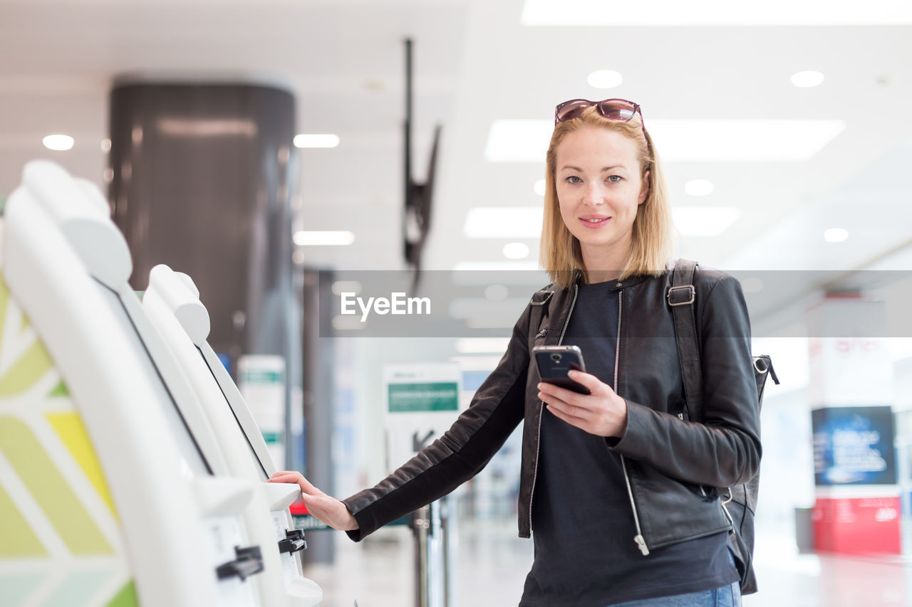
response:
<path id="1" fill-rule="evenodd" d="M 912 559 L 800 554 L 793 536 L 758 527 L 755 550 L 761 592 L 744 607 L 868 607 L 912 605 Z M 356 544 L 335 533 L 337 562 L 309 565 L 305 575 L 324 591 L 321 607 L 411 607 L 414 544 L 404 527 L 378 530 Z M 459 530 L 455 604 L 516 605 L 532 564 L 532 541 L 515 520 L 474 520 Z"/>

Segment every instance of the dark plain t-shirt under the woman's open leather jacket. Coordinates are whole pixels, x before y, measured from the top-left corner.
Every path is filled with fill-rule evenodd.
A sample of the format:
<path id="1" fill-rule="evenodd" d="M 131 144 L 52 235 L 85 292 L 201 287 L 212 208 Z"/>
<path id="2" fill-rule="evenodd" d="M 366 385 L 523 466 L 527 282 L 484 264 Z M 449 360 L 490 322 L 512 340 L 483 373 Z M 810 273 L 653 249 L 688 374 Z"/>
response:
<path id="1" fill-rule="evenodd" d="M 614 385 L 617 292 L 613 283 L 580 287 L 564 345 L 578 345 L 586 371 Z M 665 548 L 637 548 L 620 457 L 603 437 L 547 409 L 533 502 L 535 558 L 521 607 L 604 607 L 707 591 L 738 580 L 728 534 Z"/>

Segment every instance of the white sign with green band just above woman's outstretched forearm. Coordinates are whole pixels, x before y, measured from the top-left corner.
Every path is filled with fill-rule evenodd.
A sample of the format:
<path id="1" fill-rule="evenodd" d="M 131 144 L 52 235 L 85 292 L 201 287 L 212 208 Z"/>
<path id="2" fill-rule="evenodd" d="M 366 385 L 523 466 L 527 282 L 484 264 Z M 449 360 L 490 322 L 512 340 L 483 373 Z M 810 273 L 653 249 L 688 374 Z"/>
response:
<path id="1" fill-rule="evenodd" d="M 460 377 L 450 363 L 384 367 L 387 468 L 399 468 L 459 417 Z"/>

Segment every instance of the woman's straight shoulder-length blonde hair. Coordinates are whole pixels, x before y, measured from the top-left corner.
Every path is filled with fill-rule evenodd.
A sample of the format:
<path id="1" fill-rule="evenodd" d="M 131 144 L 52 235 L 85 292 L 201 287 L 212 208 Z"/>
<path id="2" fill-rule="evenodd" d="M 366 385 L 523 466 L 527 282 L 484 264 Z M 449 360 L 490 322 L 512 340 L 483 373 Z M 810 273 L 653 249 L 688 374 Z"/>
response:
<path id="1" fill-rule="evenodd" d="M 539 262 L 551 276 L 551 280 L 559 286 L 570 286 L 576 271 L 582 272 L 582 279 L 586 282 L 583 252 L 579 241 L 570 233 L 561 217 L 555 182 L 557 146 L 567 133 L 586 127 L 614 130 L 627 139 L 632 139 L 637 144 L 640 179 L 647 180 L 648 193 L 646 200 L 637 207 L 630 252 L 627 255 L 627 262 L 621 269 L 620 278 L 625 279 L 633 274 L 655 276 L 662 273 L 671 257 L 671 211 L 665 178 L 655 147 L 652 145 L 652 138 L 637 120 L 609 120 L 599 114 L 595 106 L 586 108 L 578 118 L 554 126 L 544 172 L 544 221 Z"/>

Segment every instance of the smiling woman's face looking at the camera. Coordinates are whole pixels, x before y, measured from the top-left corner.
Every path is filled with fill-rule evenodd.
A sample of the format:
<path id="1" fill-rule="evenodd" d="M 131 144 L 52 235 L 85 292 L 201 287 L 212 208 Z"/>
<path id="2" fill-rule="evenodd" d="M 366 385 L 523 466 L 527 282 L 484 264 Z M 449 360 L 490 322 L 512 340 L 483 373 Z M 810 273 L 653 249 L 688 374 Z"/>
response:
<path id="1" fill-rule="evenodd" d="M 565 135 L 556 152 L 561 217 L 584 260 L 626 257 L 637 207 L 648 193 L 636 142 L 614 130 L 584 127 Z"/>

